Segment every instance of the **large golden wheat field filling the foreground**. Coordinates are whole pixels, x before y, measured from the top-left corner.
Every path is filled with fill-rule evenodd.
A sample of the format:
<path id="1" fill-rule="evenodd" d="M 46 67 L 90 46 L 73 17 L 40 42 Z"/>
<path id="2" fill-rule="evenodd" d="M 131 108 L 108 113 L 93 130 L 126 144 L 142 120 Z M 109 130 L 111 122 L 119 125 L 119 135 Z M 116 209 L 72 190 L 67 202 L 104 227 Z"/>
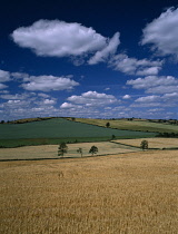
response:
<path id="1" fill-rule="evenodd" d="M 0 233 L 177 234 L 178 150 L 0 163 Z"/>

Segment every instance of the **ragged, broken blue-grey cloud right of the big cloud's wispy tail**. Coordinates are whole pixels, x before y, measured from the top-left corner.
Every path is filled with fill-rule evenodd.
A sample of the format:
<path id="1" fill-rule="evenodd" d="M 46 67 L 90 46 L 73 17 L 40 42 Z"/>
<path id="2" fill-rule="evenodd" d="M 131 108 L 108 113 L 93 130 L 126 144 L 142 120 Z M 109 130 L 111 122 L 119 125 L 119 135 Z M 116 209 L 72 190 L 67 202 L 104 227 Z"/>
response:
<path id="1" fill-rule="evenodd" d="M 148 59 L 138 60 L 129 58 L 126 53 L 116 55 L 109 61 L 109 66 L 113 67 L 115 70 L 139 76 L 157 75 L 162 64 L 164 61 L 160 60 L 151 61 Z"/>

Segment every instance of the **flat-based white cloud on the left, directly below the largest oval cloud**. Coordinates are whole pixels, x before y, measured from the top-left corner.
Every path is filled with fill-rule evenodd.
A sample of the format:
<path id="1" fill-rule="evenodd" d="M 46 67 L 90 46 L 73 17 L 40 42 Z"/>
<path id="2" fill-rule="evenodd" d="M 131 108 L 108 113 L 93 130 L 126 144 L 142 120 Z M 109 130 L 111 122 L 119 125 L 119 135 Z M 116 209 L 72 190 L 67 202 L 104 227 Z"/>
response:
<path id="1" fill-rule="evenodd" d="M 29 80 L 22 84 L 21 87 L 31 91 L 70 90 L 75 86 L 79 86 L 79 82 L 66 77 L 31 76 Z"/>

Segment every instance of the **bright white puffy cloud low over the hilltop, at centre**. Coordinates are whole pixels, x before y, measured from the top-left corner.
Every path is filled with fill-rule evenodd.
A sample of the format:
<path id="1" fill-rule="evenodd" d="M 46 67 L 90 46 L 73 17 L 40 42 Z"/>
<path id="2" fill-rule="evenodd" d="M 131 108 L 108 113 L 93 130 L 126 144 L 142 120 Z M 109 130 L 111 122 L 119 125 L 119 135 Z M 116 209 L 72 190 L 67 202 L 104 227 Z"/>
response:
<path id="1" fill-rule="evenodd" d="M 109 104 L 113 104 L 117 101 L 115 96 L 99 94 L 97 91 L 87 91 L 83 92 L 81 96 L 71 96 L 67 99 L 73 104 L 80 104 L 86 106 L 107 106 Z"/>

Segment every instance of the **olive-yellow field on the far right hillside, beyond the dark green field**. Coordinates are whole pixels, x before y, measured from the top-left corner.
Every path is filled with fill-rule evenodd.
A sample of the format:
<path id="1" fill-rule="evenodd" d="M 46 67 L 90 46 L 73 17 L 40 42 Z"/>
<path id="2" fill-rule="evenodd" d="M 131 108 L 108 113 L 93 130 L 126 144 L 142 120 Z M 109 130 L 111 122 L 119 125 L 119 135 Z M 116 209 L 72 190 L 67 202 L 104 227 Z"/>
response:
<path id="1" fill-rule="evenodd" d="M 141 131 L 155 131 L 155 133 L 178 133 L 178 125 L 150 123 L 148 120 L 108 120 L 108 119 L 90 119 L 90 118 L 76 118 L 76 121 L 92 124 L 98 126 L 106 126 L 109 121 L 111 128 L 118 128 L 122 130 L 141 130 Z"/>

